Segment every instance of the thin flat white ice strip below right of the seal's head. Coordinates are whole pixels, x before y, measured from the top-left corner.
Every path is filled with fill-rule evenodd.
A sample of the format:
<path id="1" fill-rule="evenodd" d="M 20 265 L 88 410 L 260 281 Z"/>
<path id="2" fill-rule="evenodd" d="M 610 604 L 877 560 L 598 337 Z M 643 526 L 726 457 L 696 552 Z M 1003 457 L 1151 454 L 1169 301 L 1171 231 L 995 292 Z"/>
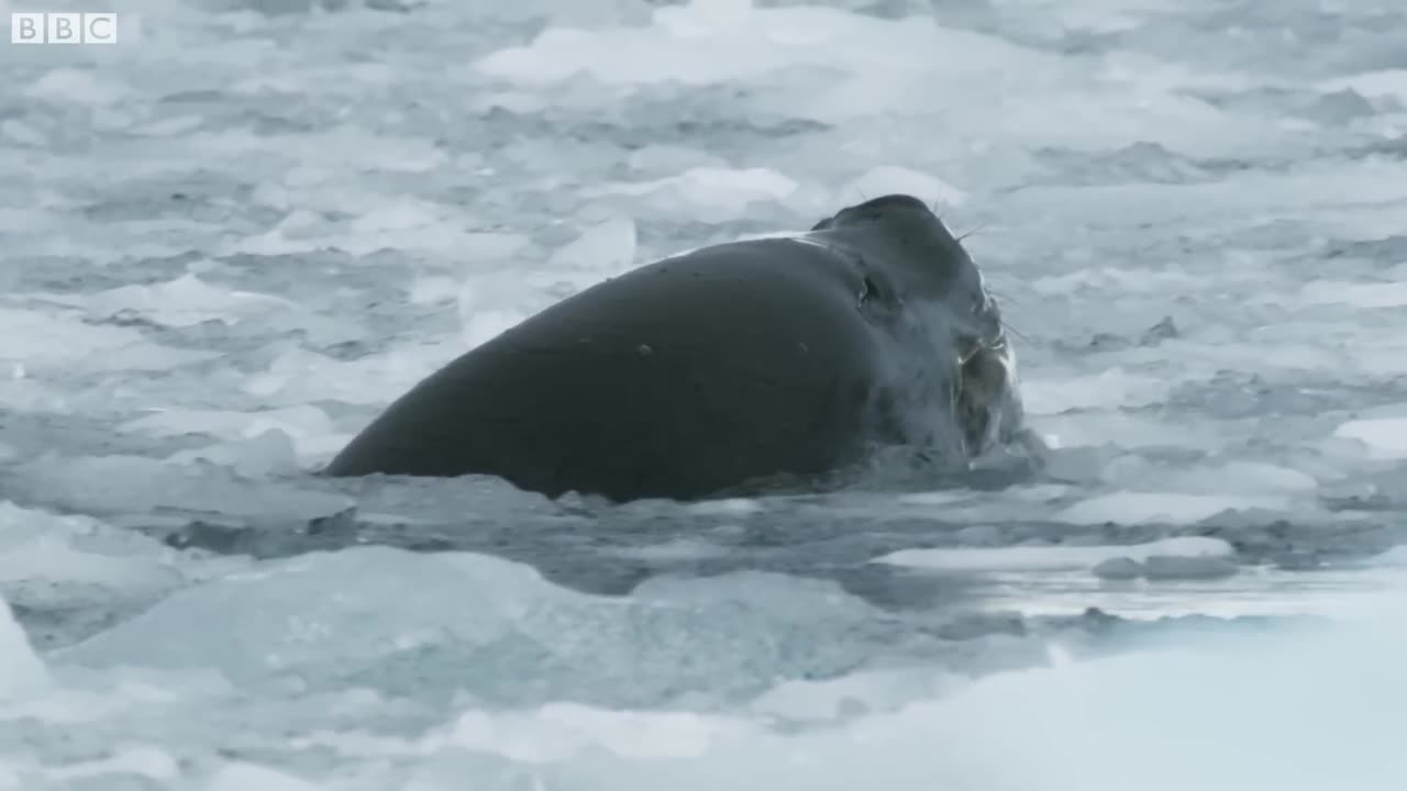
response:
<path id="1" fill-rule="evenodd" d="M 1231 557 L 1235 549 L 1223 539 L 1180 536 L 1128 546 L 1006 546 L 954 549 L 902 549 L 874 563 L 948 571 L 1013 571 L 1043 569 L 1092 569 L 1114 559 L 1147 562 L 1150 557 Z"/>

